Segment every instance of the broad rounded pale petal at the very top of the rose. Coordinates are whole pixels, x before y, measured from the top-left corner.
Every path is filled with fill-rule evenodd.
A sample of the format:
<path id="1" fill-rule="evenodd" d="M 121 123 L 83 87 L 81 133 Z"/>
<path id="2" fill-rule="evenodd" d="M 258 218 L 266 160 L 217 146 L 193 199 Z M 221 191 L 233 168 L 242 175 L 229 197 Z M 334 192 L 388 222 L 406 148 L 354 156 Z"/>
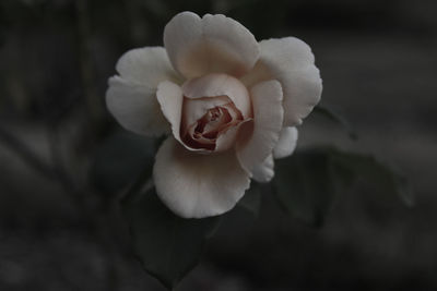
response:
<path id="1" fill-rule="evenodd" d="M 177 14 L 164 29 L 164 46 L 174 68 L 187 78 L 211 72 L 240 76 L 259 57 L 253 35 L 224 15 Z"/>

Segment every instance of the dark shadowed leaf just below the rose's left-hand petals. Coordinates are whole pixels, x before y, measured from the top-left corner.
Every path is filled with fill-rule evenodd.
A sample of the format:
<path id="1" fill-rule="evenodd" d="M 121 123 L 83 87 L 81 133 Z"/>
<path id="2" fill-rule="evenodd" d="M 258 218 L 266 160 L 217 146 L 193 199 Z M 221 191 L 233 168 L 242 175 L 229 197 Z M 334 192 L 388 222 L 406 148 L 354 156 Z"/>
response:
<path id="1" fill-rule="evenodd" d="M 152 175 L 155 151 L 156 138 L 116 132 L 97 149 L 91 181 L 101 192 L 111 194 L 135 181 L 140 174 L 146 180 Z"/>

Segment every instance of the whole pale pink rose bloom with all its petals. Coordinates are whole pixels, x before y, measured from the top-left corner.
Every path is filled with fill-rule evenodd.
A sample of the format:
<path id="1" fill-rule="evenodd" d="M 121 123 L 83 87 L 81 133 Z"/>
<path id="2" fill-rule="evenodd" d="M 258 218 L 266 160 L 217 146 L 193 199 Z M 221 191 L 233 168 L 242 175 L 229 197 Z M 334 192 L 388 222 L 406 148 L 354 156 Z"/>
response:
<path id="1" fill-rule="evenodd" d="M 106 101 L 126 129 L 168 134 L 155 158 L 156 193 L 185 218 L 221 215 L 290 156 L 296 125 L 320 99 L 315 58 L 304 41 L 258 43 L 224 15 L 177 14 L 164 48 L 126 52 Z"/>

